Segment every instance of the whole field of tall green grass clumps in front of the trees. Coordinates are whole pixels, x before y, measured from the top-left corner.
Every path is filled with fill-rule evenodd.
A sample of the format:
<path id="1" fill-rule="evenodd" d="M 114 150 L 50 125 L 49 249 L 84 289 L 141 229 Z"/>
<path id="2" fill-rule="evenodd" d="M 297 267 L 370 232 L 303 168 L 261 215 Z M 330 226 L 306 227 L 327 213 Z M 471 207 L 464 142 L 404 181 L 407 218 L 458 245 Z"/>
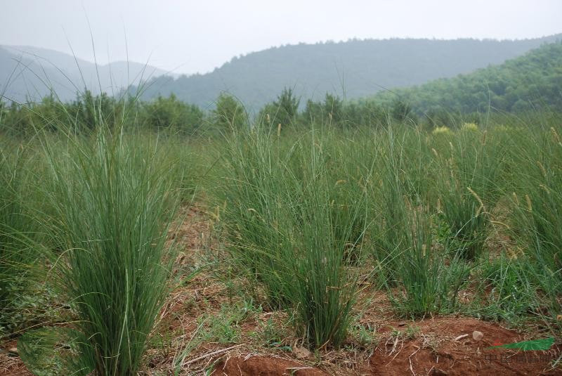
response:
<path id="1" fill-rule="evenodd" d="M 166 231 L 176 200 L 196 191 L 218 208 L 229 270 L 249 280 L 254 301 L 294 314 L 311 347 L 345 342 L 360 273 L 374 274 L 402 316 L 532 312 L 557 325 L 562 143 L 551 119 L 433 134 L 404 124 L 258 124 L 187 141 L 93 119 L 92 134 L 70 127 L 41 137 L 46 169 L 18 148 L 0 160 L 2 282 L 17 286 L 20 270 L 37 265 L 34 242 L 54 250 L 50 275 L 77 314 L 63 333 L 81 354 L 65 363 L 73 369 L 142 369 L 174 259 Z M 27 192 L 30 176 L 42 202 Z M 514 249 L 488 247 L 508 235 Z M 477 290 L 480 306 L 458 302 L 464 288 Z"/>

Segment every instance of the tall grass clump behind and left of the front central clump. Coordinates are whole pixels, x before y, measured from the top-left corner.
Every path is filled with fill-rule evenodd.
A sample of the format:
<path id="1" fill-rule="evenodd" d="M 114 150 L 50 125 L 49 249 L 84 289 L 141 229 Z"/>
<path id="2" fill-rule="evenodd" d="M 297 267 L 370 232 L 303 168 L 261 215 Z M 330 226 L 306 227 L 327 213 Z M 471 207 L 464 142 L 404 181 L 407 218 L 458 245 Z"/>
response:
<path id="1" fill-rule="evenodd" d="M 223 208 L 220 224 L 229 251 L 241 273 L 263 283 L 268 304 L 285 307 L 290 271 L 284 260 L 292 257 L 293 220 L 285 164 L 291 155 L 269 135 L 254 131 L 233 134 L 222 145 L 214 195 Z"/>

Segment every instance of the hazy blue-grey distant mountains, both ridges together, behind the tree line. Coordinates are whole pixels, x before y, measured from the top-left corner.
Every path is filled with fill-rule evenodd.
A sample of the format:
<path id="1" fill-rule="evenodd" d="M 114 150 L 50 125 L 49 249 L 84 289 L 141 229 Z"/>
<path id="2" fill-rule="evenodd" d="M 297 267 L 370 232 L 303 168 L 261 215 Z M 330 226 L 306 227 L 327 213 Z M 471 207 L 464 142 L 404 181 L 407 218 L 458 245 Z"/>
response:
<path id="1" fill-rule="evenodd" d="M 0 95 L 4 101 L 38 101 L 51 90 L 61 101 L 77 91 L 110 95 L 129 91 L 150 100 L 174 93 L 178 99 L 212 108 L 226 91 L 249 110 L 273 101 L 285 87 L 302 98 L 325 93 L 370 97 L 383 89 L 405 88 L 456 77 L 504 61 L 560 39 L 562 34 L 523 40 L 353 39 L 268 48 L 231 59 L 207 74 L 174 77 L 135 62 L 98 65 L 45 48 L 0 46 Z M 139 86 L 139 84 L 141 84 Z"/>

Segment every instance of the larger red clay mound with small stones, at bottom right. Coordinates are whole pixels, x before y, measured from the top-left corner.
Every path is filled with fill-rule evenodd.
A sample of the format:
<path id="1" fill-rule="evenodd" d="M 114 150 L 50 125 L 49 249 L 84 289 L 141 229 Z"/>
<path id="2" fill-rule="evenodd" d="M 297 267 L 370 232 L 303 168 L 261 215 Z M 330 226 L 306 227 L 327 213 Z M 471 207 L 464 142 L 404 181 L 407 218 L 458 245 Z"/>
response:
<path id="1" fill-rule="evenodd" d="M 414 323 L 414 339 L 379 343 L 362 375 L 562 375 L 550 369 L 560 356 L 559 346 L 550 351 L 487 349 L 488 346 L 525 340 L 518 333 L 494 323 L 472 318 L 438 318 Z M 398 328 L 398 327 L 396 327 Z M 398 328 L 400 330 L 401 328 Z M 391 332 L 387 326 L 381 332 Z M 402 329 L 403 330 L 403 329 Z M 473 331 L 482 332 L 480 341 Z M 468 335 L 455 340 L 462 335 Z M 396 336 L 394 336 L 396 339 Z"/>

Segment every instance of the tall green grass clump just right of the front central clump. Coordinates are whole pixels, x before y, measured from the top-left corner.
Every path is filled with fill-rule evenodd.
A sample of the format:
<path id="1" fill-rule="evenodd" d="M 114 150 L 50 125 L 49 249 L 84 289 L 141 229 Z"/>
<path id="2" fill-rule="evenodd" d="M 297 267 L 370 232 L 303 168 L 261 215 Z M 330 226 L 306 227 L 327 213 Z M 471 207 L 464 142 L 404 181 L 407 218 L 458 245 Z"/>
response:
<path id="1" fill-rule="evenodd" d="M 410 179 L 429 167 L 408 166 L 412 155 L 428 150 L 423 138 L 412 142 L 408 132 L 379 134 L 378 181 L 372 190 L 379 219 L 370 233 L 379 283 L 400 313 L 419 317 L 455 309 L 470 268 L 436 239 L 436 216 L 426 203 L 429 189 L 423 179 Z"/>

